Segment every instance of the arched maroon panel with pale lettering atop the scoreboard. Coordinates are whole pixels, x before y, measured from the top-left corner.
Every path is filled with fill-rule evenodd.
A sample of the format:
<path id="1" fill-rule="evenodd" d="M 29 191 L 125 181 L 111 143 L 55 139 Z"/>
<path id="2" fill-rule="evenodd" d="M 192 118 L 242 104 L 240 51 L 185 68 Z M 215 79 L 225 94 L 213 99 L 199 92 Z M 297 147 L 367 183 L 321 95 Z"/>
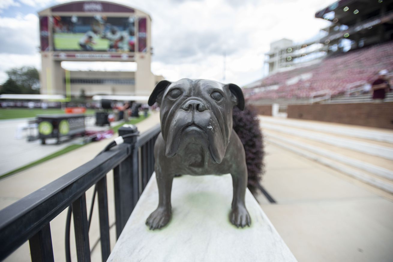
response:
<path id="1" fill-rule="evenodd" d="M 134 13 L 134 9 L 101 1 L 81 1 L 55 6 L 52 8 L 52 12 Z"/>

